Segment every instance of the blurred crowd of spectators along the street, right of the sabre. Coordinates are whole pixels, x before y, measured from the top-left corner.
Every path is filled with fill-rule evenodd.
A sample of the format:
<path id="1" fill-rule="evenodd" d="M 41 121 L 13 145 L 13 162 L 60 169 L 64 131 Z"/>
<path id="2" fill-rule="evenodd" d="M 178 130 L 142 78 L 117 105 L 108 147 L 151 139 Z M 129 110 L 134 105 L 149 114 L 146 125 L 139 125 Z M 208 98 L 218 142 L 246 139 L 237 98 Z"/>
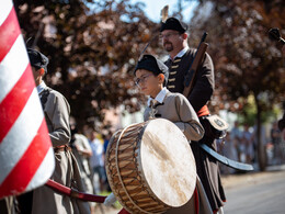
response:
<path id="1" fill-rule="evenodd" d="M 266 164 L 285 164 L 285 142 L 277 122 L 271 124 L 270 134 L 266 135 L 265 128 L 261 127 L 261 144 L 266 154 Z M 244 164 L 256 165 L 258 162 L 258 139 L 256 125 L 240 125 L 235 122 L 233 127 L 227 133 L 226 138 L 218 142 L 219 154 Z M 237 172 L 235 169 L 220 165 L 224 174 Z"/>

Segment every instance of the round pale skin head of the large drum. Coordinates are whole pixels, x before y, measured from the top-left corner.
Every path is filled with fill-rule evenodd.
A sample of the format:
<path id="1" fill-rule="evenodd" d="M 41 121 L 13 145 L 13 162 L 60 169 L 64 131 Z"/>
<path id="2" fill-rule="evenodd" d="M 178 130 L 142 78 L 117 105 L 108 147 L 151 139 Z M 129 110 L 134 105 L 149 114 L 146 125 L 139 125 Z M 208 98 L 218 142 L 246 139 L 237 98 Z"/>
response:
<path id="1" fill-rule="evenodd" d="M 153 194 L 169 206 L 182 206 L 196 185 L 196 166 L 184 134 L 172 122 L 146 125 L 138 149 L 139 169 Z"/>

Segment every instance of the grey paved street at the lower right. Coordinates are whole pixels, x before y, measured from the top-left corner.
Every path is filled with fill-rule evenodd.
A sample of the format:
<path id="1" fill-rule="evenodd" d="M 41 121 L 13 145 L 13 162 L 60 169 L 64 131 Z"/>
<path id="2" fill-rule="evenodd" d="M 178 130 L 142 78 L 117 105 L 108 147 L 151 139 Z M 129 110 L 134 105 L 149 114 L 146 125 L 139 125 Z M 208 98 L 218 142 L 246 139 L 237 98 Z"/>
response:
<path id="1" fill-rule="evenodd" d="M 236 176 L 225 180 L 225 214 L 284 214 L 285 171 Z M 230 181 L 231 180 L 231 181 Z"/>

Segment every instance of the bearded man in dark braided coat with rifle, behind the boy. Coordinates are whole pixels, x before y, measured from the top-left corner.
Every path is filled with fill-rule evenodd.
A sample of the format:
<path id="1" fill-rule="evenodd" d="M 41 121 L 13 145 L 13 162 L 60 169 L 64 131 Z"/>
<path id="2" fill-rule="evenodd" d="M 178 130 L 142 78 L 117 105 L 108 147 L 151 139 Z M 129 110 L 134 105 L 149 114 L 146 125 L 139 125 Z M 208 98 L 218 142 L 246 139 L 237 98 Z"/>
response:
<path id="1" fill-rule="evenodd" d="M 161 24 L 160 29 L 162 45 L 169 53 L 169 59 L 166 61 L 166 65 L 169 67 L 169 81 L 167 88 L 171 92 L 183 93 L 184 77 L 196 52 L 196 49 L 187 46 L 186 30 L 186 25 L 175 18 L 169 18 Z M 209 115 L 207 103 L 213 95 L 214 88 L 214 66 L 209 55 L 206 54 L 203 65 L 196 74 L 193 89 L 187 99 L 197 113 L 201 124 L 205 129 L 204 137 L 200 142 L 193 142 L 191 147 L 196 160 L 197 174 L 202 180 L 212 210 L 215 213 L 221 209 L 226 201 L 220 181 L 219 168 L 217 160 L 208 156 L 198 146 L 198 144 L 204 143 L 212 149 L 217 150 L 215 139 L 207 133 L 208 127 L 205 119 Z"/>

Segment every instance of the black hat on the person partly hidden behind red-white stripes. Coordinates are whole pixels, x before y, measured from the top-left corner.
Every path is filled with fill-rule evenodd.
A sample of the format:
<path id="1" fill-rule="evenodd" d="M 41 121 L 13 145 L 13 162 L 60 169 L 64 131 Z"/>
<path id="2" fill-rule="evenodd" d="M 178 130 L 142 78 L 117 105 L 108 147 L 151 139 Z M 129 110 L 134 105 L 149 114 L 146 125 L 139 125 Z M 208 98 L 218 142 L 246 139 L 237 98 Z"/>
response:
<path id="1" fill-rule="evenodd" d="M 27 48 L 27 55 L 31 66 L 38 69 L 44 68 L 45 72 L 47 72 L 48 58 L 45 55 L 32 48 Z"/>

